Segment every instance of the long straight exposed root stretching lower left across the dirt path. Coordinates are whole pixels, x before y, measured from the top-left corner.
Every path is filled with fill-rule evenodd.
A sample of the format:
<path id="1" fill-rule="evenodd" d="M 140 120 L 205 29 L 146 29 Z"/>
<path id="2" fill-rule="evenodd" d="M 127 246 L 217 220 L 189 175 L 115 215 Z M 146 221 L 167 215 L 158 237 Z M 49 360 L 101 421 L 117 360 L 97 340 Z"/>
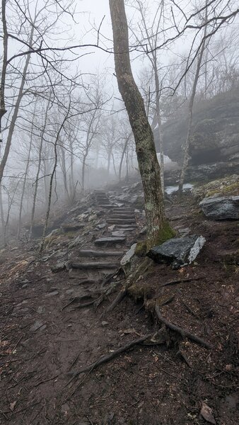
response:
<path id="1" fill-rule="evenodd" d="M 103 363 L 107 363 L 108 361 L 112 360 L 112 358 L 119 356 L 119 354 L 124 353 L 124 351 L 128 351 L 130 348 L 141 344 L 142 342 L 146 341 L 146 339 L 151 339 L 154 334 L 155 333 L 148 334 L 141 336 L 139 339 L 134 339 L 134 341 L 131 341 L 125 346 L 118 348 L 113 353 L 106 354 L 105 356 L 98 358 L 98 360 L 94 363 L 91 363 L 91 365 L 85 366 L 76 372 L 69 372 L 68 375 L 76 378 L 78 375 L 81 375 L 81 373 L 90 372 L 91 370 L 98 368 L 98 366 L 103 365 Z"/>

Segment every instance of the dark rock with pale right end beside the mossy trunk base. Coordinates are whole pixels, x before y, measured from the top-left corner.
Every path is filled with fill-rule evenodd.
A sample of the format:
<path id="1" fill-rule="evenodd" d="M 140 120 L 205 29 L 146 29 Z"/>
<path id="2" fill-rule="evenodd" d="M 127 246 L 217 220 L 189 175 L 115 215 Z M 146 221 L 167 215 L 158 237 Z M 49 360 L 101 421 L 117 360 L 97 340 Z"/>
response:
<path id="1" fill-rule="evenodd" d="M 153 246 L 147 256 L 156 263 L 173 264 L 173 268 L 190 264 L 199 254 L 206 239 L 197 234 L 169 239 L 159 246 Z"/>

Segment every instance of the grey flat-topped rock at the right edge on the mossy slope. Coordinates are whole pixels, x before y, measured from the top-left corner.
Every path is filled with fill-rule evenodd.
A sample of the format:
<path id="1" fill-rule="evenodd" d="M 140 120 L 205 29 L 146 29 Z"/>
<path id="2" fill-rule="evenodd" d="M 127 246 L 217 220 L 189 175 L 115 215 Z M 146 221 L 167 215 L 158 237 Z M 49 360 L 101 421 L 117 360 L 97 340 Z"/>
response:
<path id="1" fill-rule="evenodd" d="M 204 198 L 199 203 L 204 215 L 212 220 L 238 220 L 239 196 Z"/>

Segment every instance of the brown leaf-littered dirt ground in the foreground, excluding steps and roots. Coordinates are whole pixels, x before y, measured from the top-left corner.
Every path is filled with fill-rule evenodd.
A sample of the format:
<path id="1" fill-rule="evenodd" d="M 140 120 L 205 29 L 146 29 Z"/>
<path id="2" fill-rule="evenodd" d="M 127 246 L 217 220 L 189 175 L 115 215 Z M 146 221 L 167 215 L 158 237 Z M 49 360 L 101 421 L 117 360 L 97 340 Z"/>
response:
<path id="1" fill-rule="evenodd" d="M 239 423 L 238 222 L 205 220 L 191 198 L 167 209 L 174 227 L 190 227 L 206 237 L 202 253 L 180 271 L 153 266 L 139 280 L 144 290 L 137 302 L 126 297 L 105 317 L 109 300 L 98 309 L 61 310 L 72 294 L 87 288 L 66 271 L 52 273 L 54 259 L 30 263 L 34 253 L 26 245 L 2 256 L 0 424 L 209 424 L 200 415 L 202 402 L 212 409 L 211 423 Z M 24 283 L 26 278 L 30 283 Z M 159 288 L 180 278 L 199 280 Z M 49 295 L 54 290 L 58 294 Z M 69 370 L 157 331 L 151 306 L 168 298 L 171 302 L 161 306 L 163 317 L 202 336 L 211 349 L 170 331 L 165 344 L 136 346 L 69 383 Z M 36 320 L 42 327 L 31 331 Z M 187 362 L 177 354 L 179 348 Z"/>

